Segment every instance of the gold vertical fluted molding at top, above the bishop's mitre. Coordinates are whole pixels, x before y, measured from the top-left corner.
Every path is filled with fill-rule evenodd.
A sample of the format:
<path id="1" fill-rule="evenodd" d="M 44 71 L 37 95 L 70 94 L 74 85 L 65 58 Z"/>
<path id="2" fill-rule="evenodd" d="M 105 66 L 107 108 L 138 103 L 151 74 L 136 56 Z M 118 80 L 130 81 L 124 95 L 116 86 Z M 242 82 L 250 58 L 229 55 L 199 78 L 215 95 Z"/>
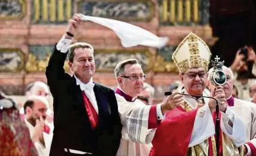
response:
<path id="1" fill-rule="evenodd" d="M 159 0 L 160 25 L 209 24 L 209 0 Z"/>

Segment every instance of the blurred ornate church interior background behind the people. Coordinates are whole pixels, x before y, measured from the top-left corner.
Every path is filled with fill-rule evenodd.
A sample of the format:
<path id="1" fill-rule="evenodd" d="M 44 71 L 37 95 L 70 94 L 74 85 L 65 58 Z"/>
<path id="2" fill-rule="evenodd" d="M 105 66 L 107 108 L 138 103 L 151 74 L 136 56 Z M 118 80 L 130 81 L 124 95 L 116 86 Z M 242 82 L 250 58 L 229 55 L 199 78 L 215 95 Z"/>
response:
<path id="1" fill-rule="evenodd" d="M 136 58 L 147 75 L 145 82 L 153 86 L 151 104 L 161 102 L 164 91 L 179 84 L 172 53 L 182 38 L 194 32 L 209 45 L 212 56 L 225 60 L 235 73 L 234 96 L 252 100 L 255 4 L 254 0 L 0 0 L 0 90 L 22 106 L 29 84 L 47 83 L 45 67 L 53 45 L 65 32 L 67 20 L 82 13 L 132 23 L 170 38 L 161 50 L 123 48 L 112 30 L 84 22 L 75 41 L 95 47 L 94 81 L 114 89 L 117 62 Z M 65 69 L 69 71 L 66 64 Z"/>

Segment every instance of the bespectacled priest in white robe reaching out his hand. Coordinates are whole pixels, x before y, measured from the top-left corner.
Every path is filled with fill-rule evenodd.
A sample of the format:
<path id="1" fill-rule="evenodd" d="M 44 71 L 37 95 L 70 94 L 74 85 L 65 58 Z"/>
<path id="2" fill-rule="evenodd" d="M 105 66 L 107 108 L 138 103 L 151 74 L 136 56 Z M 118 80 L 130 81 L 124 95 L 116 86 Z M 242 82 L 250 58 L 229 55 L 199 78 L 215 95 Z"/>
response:
<path id="1" fill-rule="evenodd" d="M 151 140 L 164 112 L 175 108 L 181 96 L 172 104 L 167 99 L 158 105 L 145 105 L 136 97 L 142 92 L 145 75 L 138 60 L 124 60 L 115 67 L 118 87 L 115 90 L 118 111 L 123 124 L 118 156 L 149 155 Z"/>

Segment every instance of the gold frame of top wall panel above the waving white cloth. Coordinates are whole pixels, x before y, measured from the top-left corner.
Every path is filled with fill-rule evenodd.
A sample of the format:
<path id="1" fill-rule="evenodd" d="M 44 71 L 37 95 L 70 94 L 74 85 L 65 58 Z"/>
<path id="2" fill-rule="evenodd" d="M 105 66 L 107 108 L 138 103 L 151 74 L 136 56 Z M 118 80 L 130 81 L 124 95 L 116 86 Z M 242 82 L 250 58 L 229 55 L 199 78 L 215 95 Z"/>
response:
<path id="1" fill-rule="evenodd" d="M 83 2 L 83 0 L 79 0 L 77 2 L 77 11 L 78 12 L 81 12 L 81 2 Z M 97 0 L 87 0 L 86 2 L 99 2 Z M 153 19 L 154 16 L 156 16 L 156 8 L 155 8 L 155 5 L 152 1 L 150 0 L 104 0 L 103 2 L 147 2 L 149 7 L 150 7 L 150 14 L 145 17 L 145 18 L 134 18 L 134 17 L 127 17 L 127 18 L 124 18 L 124 17 L 120 17 L 120 18 L 111 18 L 111 17 L 103 17 L 103 18 L 111 18 L 111 19 L 114 19 L 114 20 L 124 20 L 124 21 L 127 21 L 127 20 L 130 20 L 130 21 L 149 21 L 151 19 Z"/>

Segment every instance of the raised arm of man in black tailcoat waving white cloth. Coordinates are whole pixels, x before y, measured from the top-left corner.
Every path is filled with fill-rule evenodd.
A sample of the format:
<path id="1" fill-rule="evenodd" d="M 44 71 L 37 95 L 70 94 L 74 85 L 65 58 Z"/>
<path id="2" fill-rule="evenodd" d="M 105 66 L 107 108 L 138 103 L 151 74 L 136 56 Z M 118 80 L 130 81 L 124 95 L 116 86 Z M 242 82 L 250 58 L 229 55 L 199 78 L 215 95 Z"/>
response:
<path id="1" fill-rule="evenodd" d="M 77 30 L 78 25 L 80 24 L 80 15 L 75 14 L 71 20 L 68 22 L 68 27 L 66 32 L 60 39 L 60 41 L 54 46 L 50 60 L 48 62 L 48 66 L 45 71 L 45 75 L 47 78 L 47 84 L 50 87 L 51 94 L 54 97 L 54 120 L 56 118 L 59 106 L 57 105 L 59 102 L 59 93 L 62 90 L 62 84 L 66 84 L 66 80 L 71 77 L 69 74 L 65 73 L 63 68 L 66 56 L 68 54 L 68 46 L 72 42 L 73 34 Z"/>

